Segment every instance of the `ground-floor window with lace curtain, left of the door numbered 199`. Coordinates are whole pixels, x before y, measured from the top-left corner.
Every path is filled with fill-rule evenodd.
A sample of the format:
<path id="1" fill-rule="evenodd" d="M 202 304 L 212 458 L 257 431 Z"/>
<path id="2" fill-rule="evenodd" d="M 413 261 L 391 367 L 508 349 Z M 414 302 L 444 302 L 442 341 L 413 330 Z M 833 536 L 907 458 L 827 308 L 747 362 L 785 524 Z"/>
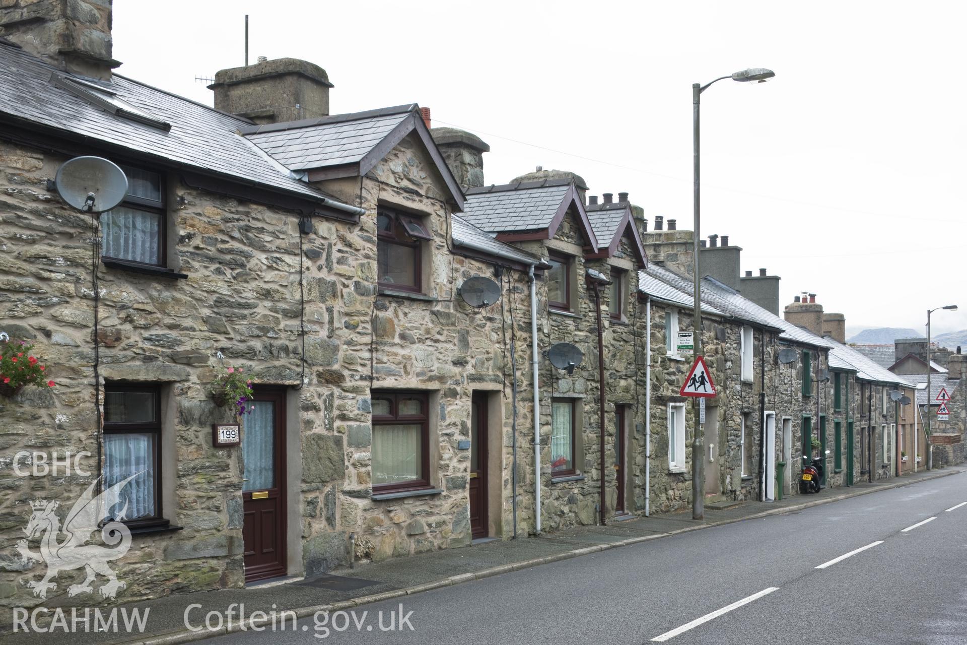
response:
<path id="1" fill-rule="evenodd" d="M 161 517 L 161 388 L 106 384 L 103 427 L 103 488 L 133 477 L 103 519 L 132 528 L 167 524 Z"/>

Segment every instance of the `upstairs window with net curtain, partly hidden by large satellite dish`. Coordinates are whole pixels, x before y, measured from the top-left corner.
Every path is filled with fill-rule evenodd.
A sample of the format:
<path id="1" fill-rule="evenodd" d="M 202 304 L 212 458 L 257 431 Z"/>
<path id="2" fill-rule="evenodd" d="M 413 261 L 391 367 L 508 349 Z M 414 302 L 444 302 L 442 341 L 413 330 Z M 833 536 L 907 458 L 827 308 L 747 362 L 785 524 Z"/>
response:
<path id="1" fill-rule="evenodd" d="M 148 267 L 166 266 L 167 224 L 161 173 L 122 165 L 128 193 L 101 215 L 105 259 Z"/>

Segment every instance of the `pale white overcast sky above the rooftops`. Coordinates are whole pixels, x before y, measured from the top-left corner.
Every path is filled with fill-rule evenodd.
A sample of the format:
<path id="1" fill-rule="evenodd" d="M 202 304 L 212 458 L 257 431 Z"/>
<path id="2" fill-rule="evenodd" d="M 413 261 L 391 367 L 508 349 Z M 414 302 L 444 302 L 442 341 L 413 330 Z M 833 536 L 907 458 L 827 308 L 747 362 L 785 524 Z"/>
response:
<path id="1" fill-rule="evenodd" d="M 702 95 L 702 234 L 847 329 L 967 328 L 958 3 L 115 0 L 119 73 L 212 104 L 249 60 L 302 58 L 332 113 L 401 103 L 478 133 L 488 184 L 536 165 L 691 228 L 691 83 Z"/>

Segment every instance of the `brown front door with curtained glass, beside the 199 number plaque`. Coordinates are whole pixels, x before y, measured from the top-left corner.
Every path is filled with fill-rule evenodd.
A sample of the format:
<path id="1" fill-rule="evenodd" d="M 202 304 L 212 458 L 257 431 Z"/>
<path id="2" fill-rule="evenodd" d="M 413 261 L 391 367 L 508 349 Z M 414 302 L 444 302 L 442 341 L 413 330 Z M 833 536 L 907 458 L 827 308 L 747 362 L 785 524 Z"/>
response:
<path id="1" fill-rule="evenodd" d="M 242 434 L 246 582 L 284 575 L 285 393 L 256 390 Z"/>

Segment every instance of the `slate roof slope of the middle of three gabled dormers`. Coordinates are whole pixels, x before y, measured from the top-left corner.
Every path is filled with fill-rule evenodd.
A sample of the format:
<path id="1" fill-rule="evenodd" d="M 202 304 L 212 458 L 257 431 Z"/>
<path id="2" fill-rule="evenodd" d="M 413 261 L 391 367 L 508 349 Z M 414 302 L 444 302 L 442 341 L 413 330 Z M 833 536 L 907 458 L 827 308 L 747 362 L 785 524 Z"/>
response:
<path id="1" fill-rule="evenodd" d="M 539 230 L 550 226 L 569 191 L 571 181 L 563 179 L 470 189 L 463 217 L 485 231 Z"/>

